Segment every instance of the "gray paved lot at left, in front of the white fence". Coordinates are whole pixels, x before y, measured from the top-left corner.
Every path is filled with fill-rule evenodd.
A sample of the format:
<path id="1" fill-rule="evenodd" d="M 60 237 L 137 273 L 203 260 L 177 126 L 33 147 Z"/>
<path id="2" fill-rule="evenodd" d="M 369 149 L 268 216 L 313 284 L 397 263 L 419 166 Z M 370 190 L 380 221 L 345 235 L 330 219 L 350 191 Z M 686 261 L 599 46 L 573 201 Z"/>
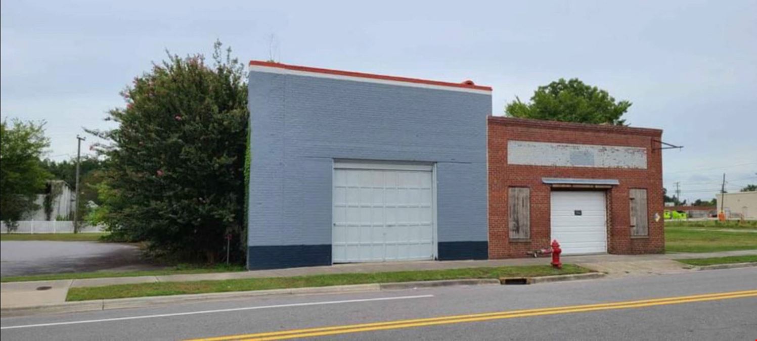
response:
<path id="1" fill-rule="evenodd" d="M 136 246 L 89 241 L 2 241 L 0 276 L 154 268 Z"/>

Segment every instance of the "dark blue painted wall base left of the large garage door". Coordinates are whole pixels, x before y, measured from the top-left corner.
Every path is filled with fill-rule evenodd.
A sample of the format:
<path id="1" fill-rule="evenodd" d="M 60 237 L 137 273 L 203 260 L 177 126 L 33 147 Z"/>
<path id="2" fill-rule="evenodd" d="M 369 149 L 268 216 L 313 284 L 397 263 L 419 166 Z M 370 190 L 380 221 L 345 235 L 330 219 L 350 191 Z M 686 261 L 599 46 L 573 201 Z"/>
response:
<path id="1" fill-rule="evenodd" d="M 331 244 L 249 246 L 248 270 L 331 265 Z"/>

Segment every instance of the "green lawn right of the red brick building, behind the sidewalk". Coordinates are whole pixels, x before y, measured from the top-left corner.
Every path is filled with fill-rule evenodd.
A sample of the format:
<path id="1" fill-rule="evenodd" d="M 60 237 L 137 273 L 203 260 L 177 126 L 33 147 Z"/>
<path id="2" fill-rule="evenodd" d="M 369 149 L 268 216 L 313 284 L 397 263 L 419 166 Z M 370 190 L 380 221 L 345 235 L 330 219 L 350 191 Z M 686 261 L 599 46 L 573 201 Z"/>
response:
<path id="1" fill-rule="evenodd" d="M 706 224 L 710 223 L 710 224 Z M 729 250 L 757 249 L 757 233 L 753 228 L 744 231 L 717 231 L 720 228 L 736 229 L 731 225 L 713 225 L 711 222 L 665 222 L 665 251 L 671 253 L 709 253 Z"/>

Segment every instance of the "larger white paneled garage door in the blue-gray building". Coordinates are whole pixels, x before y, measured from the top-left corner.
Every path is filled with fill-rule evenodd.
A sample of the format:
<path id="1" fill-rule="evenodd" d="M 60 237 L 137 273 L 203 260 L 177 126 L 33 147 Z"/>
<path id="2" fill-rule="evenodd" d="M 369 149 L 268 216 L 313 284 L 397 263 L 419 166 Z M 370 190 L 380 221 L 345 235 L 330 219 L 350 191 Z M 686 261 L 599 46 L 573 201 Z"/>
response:
<path id="1" fill-rule="evenodd" d="M 432 166 L 335 163 L 333 262 L 434 259 Z"/>

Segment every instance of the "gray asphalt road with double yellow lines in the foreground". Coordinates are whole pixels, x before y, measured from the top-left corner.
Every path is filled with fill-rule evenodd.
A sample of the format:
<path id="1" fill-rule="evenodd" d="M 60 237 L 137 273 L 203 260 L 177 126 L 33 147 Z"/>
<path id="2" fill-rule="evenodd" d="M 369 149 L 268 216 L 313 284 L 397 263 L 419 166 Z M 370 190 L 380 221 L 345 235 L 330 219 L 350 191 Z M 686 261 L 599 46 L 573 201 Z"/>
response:
<path id="1" fill-rule="evenodd" d="M 757 293 L 618 303 L 757 290 L 757 268 L 696 271 L 529 286 L 447 287 L 339 295 L 269 296 L 70 315 L 0 319 L 4 341 L 23 339 L 189 339 L 438 318 L 526 313 L 344 327 L 323 339 L 755 339 Z M 596 309 L 576 308 L 593 305 Z M 552 311 L 534 308 L 558 308 Z M 230 310 L 231 309 L 231 310 Z M 461 321 L 462 320 L 462 321 Z M 451 321 L 451 322 L 450 322 Z M 410 324 L 410 325 L 408 325 Z M 425 325 L 424 325 L 425 324 Z M 381 327 L 385 326 L 385 327 Z M 287 334 L 299 336 L 302 332 Z M 282 336 L 284 334 L 279 334 Z M 277 335 L 273 335 L 278 337 Z"/>

